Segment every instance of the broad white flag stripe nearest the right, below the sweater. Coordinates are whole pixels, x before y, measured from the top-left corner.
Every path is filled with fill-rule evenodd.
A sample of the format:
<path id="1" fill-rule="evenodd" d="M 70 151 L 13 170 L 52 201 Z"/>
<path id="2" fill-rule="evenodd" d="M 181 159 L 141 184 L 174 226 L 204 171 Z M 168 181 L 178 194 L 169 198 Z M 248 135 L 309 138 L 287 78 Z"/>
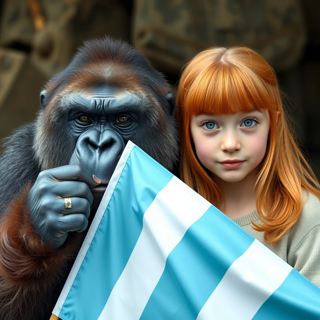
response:
<path id="1" fill-rule="evenodd" d="M 254 240 L 227 270 L 197 320 L 252 319 L 291 270 L 275 253 Z"/>

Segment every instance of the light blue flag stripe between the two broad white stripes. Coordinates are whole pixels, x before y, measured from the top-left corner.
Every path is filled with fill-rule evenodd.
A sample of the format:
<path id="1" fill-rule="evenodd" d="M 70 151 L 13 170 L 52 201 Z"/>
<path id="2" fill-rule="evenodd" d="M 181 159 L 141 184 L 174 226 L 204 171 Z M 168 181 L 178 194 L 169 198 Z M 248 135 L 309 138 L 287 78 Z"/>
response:
<path id="1" fill-rule="evenodd" d="M 253 241 L 211 206 L 168 256 L 140 320 L 196 319 L 228 268 Z"/>

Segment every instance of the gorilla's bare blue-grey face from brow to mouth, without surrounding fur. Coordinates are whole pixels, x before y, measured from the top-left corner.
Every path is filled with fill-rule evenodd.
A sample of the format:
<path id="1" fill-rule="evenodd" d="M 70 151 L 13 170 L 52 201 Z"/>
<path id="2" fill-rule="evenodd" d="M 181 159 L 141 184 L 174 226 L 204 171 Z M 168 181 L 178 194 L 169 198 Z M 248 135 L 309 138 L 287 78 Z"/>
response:
<path id="1" fill-rule="evenodd" d="M 100 180 L 92 192 L 104 192 L 128 140 L 136 140 L 147 119 L 141 97 L 110 85 L 72 93 L 63 103 L 67 128 L 76 147 L 69 164 L 80 164 Z"/>

